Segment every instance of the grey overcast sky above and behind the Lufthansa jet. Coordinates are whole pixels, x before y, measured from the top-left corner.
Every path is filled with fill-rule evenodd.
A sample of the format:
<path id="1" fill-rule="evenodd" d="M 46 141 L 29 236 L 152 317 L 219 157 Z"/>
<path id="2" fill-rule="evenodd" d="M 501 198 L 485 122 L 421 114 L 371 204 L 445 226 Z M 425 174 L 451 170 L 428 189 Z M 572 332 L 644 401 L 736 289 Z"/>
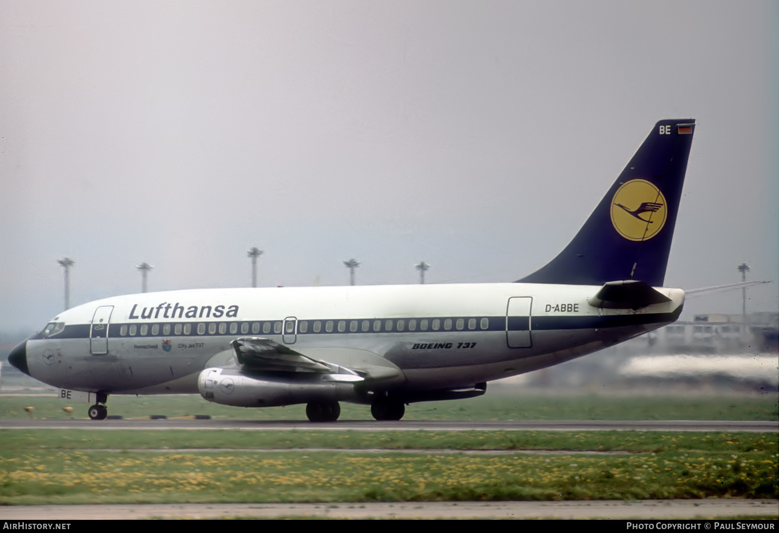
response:
<path id="1" fill-rule="evenodd" d="M 777 311 L 779 3 L 0 2 L 0 330 L 150 290 L 513 281 L 696 118 L 666 284 Z M 689 300 L 740 312 L 739 291 Z M 31 333 L 31 331 L 30 331 Z"/>

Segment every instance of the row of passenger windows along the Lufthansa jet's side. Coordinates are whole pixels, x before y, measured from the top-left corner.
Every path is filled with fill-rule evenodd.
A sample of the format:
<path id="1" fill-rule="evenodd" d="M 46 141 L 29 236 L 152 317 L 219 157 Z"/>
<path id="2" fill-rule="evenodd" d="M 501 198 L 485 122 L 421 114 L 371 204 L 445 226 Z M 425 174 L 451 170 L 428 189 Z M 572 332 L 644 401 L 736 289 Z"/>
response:
<path id="1" fill-rule="evenodd" d="M 295 332 L 295 323 L 298 324 L 298 331 Z M 238 330 L 241 334 L 248 334 L 251 330 L 252 334 L 270 334 L 273 330 L 273 334 L 280 334 L 284 329 L 284 334 L 294 335 L 308 333 L 309 323 L 313 333 L 356 333 L 358 331 L 367 332 L 391 332 L 391 331 L 439 331 L 443 330 L 476 330 L 477 327 L 481 330 L 486 330 L 489 327 L 489 319 L 475 319 L 475 318 L 457 318 L 457 319 L 374 319 L 374 320 L 285 320 L 284 322 L 277 320 L 273 322 L 231 322 L 231 323 L 199 323 L 196 325 L 196 331 L 198 335 L 205 335 L 206 330 L 208 334 L 224 335 L 229 331 L 230 334 L 238 334 Z M 192 334 L 192 323 L 183 324 L 122 324 L 119 327 L 119 335 L 126 337 L 127 335 L 133 337 L 136 335 L 146 336 L 151 334 L 152 336 L 160 335 L 190 335 Z"/>

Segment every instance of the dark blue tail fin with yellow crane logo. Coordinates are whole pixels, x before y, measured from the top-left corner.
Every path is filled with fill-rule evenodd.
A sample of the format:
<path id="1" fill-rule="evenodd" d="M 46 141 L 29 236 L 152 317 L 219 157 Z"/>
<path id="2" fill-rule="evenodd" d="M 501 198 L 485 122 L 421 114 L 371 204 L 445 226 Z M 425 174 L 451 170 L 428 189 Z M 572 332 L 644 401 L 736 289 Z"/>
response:
<path id="1" fill-rule="evenodd" d="M 662 286 L 695 120 L 661 120 L 573 241 L 519 283 Z"/>

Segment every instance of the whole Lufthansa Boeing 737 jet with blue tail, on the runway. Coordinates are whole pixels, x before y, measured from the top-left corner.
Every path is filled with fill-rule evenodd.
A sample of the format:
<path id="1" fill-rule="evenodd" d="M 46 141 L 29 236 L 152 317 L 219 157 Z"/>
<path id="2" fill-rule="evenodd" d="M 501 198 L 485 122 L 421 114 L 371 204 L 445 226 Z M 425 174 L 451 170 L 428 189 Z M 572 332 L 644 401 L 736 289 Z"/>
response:
<path id="1" fill-rule="evenodd" d="M 117 296 L 61 312 L 9 362 L 94 393 L 94 419 L 110 394 L 307 404 L 313 422 L 340 401 L 399 420 L 411 402 L 484 394 L 679 317 L 684 291 L 662 285 L 694 129 L 657 122 L 569 245 L 519 281 Z"/>

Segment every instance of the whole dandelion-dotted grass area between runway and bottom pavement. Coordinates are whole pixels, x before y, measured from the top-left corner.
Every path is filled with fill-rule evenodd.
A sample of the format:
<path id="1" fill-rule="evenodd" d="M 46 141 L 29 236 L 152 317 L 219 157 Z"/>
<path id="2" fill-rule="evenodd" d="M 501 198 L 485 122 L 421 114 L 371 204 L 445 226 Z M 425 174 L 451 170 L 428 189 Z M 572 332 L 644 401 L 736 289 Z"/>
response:
<path id="1" fill-rule="evenodd" d="M 777 436 L 654 432 L 98 432 L 5 430 L 0 433 L 0 504 L 176 502 L 358 502 L 504 499 L 647 499 L 734 496 L 777 498 Z M 114 434 L 115 433 L 115 434 Z M 167 433 L 174 433 L 168 436 Z M 186 433 L 183 435 L 182 433 Z M 193 433 L 196 433 L 193 435 Z M 209 435 L 202 435 L 210 433 Z M 510 433 L 510 435 L 509 435 Z M 132 437 L 139 434 L 138 437 Z M 188 452 L 100 451 L 121 439 L 136 447 L 190 446 Z M 231 450 L 254 447 L 423 447 L 551 450 L 643 449 L 612 456 L 557 454 L 365 454 Z M 642 443 L 652 437 L 651 443 Z M 216 439 L 211 440 L 211 439 Z M 330 440 L 328 440 L 330 439 Z M 595 440 L 601 441 L 597 447 Z M 57 441 L 59 444 L 57 444 Z M 92 450 L 79 450 L 86 443 Z M 502 446 L 501 446 L 502 443 Z M 588 444 L 587 444 L 588 443 Z M 125 442 L 125 446 L 130 443 Z M 139 446 L 141 444 L 143 446 Z M 153 446 L 152 446 L 153 445 Z M 650 448 L 654 451 L 648 451 Z"/>

